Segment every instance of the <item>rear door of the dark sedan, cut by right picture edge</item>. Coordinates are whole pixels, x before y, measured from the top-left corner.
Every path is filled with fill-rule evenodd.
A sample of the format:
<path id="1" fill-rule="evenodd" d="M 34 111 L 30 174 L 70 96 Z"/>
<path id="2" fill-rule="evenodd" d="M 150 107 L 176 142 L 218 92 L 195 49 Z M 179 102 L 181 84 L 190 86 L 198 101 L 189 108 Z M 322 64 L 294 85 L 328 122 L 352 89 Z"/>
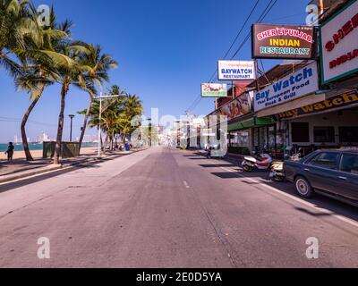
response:
<path id="1" fill-rule="evenodd" d="M 339 171 L 339 189 L 346 198 L 358 201 L 358 154 L 344 153 Z"/>

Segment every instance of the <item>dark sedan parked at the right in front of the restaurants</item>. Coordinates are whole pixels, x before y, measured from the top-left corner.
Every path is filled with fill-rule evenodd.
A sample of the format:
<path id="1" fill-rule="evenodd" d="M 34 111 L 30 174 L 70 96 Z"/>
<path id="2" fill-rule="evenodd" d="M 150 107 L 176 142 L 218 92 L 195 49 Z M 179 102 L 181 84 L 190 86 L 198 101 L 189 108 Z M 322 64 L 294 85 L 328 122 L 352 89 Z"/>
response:
<path id="1" fill-rule="evenodd" d="M 286 161 L 286 179 L 303 198 L 315 192 L 358 206 L 358 150 L 320 150 Z"/>

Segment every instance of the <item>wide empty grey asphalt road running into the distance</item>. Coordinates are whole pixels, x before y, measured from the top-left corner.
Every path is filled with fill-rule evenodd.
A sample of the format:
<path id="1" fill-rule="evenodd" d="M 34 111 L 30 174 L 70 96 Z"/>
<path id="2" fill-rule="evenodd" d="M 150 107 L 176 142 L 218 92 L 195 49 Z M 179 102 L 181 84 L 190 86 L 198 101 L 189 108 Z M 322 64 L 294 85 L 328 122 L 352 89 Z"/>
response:
<path id="1" fill-rule="evenodd" d="M 160 147 L 0 186 L 0 267 L 358 267 L 358 208 L 266 176 Z"/>

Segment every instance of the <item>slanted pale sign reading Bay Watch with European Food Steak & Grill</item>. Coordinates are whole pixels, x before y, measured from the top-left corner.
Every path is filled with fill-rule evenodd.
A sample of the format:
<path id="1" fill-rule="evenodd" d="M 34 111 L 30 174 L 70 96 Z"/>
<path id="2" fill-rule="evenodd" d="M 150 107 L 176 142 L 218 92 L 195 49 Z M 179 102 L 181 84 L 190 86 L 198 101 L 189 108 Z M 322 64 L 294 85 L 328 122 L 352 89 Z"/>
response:
<path id="1" fill-rule="evenodd" d="M 257 92 L 254 96 L 255 112 L 304 97 L 318 89 L 317 65 L 314 62 Z"/>

